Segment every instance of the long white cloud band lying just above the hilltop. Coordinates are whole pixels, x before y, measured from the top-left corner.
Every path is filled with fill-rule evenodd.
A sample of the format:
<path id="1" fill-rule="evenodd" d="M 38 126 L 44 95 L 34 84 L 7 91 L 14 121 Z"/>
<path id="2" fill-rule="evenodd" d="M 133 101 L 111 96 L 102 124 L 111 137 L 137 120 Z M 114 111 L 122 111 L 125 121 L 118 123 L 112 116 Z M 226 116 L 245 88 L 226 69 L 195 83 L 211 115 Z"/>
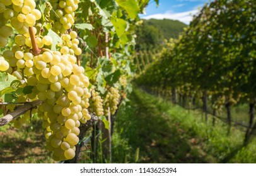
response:
<path id="1" fill-rule="evenodd" d="M 189 25 L 190 21 L 192 21 L 192 16 L 196 14 L 199 10 L 194 9 L 192 11 L 185 11 L 182 13 L 173 13 L 172 11 L 166 11 L 165 13 L 151 14 L 149 16 L 142 16 L 143 19 L 174 19 L 178 21 L 182 21 L 183 23 Z"/>

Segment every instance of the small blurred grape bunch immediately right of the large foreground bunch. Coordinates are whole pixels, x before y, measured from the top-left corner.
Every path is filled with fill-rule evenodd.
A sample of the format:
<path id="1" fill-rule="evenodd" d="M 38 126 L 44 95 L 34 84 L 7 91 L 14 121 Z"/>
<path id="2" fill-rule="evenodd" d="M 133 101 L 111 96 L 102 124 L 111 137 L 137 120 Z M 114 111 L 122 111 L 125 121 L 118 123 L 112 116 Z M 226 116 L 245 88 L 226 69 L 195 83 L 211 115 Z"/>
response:
<path id="1" fill-rule="evenodd" d="M 91 87 L 91 99 L 89 101 L 90 103 L 90 109 L 91 112 L 95 113 L 96 116 L 103 116 L 103 99 L 98 94 L 98 92 L 95 90 L 95 87 Z"/>

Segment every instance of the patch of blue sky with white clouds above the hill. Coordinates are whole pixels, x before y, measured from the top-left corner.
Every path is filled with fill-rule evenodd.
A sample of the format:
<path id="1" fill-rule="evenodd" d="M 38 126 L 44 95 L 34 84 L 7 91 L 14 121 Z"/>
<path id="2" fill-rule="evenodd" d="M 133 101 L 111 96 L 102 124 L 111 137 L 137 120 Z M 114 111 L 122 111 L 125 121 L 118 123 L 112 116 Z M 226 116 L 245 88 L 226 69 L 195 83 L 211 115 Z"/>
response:
<path id="1" fill-rule="evenodd" d="M 154 0 L 149 1 L 146 14 L 140 14 L 143 19 L 177 19 L 189 25 L 192 16 L 199 12 L 205 3 L 212 0 L 159 0 L 160 4 L 156 8 Z"/>

